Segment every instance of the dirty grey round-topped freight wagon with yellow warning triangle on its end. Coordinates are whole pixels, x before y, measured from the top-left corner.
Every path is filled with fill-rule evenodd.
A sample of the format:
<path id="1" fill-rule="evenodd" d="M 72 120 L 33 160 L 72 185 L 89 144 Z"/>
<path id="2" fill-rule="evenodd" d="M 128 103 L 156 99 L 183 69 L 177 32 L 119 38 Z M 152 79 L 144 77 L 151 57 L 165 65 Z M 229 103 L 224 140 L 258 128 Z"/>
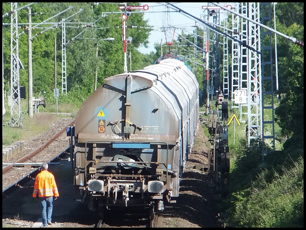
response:
<path id="1" fill-rule="evenodd" d="M 90 210 L 152 212 L 179 195 L 198 130 L 198 95 L 195 75 L 172 58 L 105 78 L 84 101 L 71 134 L 74 183 Z"/>

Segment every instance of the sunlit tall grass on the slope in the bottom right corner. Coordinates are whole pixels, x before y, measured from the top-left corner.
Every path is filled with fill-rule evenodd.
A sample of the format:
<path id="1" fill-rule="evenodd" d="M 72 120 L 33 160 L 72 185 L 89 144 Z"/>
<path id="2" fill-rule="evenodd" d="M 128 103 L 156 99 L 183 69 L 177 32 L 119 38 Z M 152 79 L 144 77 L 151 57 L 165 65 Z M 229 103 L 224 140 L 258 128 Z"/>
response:
<path id="1" fill-rule="evenodd" d="M 251 228 L 304 226 L 304 159 L 282 173 L 264 169 L 251 186 L 234 192 L 230 225 Z M 272 175 L 271 175 L 272 174 Z"/>

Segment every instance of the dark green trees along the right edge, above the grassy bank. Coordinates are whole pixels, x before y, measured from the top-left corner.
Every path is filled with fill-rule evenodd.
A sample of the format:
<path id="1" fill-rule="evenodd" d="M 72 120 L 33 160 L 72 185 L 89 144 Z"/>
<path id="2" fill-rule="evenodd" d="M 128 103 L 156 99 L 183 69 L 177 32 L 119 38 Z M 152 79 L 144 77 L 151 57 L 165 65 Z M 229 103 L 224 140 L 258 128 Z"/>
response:
<path id="1" fill-rule="evenodd" d="M 304 41 L 304 3 L 276 5 L 277 30 Z M 290 15 L 290 16 L 289 16 Z M 304 49 L 286 38 L 278 37 L 278 73 L 281 101 L 275 110 L 283 134 L 304 133 Z"/>

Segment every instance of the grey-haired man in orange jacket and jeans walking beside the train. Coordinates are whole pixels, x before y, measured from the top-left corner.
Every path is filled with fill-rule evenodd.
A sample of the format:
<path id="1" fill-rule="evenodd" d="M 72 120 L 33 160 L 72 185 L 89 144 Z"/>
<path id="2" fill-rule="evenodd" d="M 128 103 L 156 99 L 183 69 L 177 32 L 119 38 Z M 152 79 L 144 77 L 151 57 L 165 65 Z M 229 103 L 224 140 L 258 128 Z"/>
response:
<path id="1" fill-rule="evenodd" d="M 56 200 L 59 194 L 53 174 L 47 171 L 48 164 L 46 162 L 42 163 L 40 169 L 41 172 L 36 176 L 33 197 L 39 199 L 43 227 L 48 227 L 48 225 L 51 225 L 53 196 Z"/>

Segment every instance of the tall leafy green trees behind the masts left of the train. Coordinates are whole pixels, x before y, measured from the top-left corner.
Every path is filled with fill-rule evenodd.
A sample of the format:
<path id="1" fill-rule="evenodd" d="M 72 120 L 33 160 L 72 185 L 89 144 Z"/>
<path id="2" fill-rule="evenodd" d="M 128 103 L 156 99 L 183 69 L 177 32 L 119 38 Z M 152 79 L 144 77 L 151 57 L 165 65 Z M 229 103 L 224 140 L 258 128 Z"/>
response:
<path id="1" fill-rule="evenodd" d="M 18 8 L 28 3 L 18 3 Z M 132 4 L 132 3 L 131 3 Z M 138 3 L 133 3 L 137 5 Z M 140 4 L 138 4 L 140 5 Z M 62 47 L 66 46 L 67 57 L 67 89 L 71 92 L 73 100 L 84 100 L 94 90 L 95 70 L 98 66 L 98 86 L 104 83 L 104 78 L 124 71 L 123 68 L 123 43 L 122 43 L 122 19 L 121 13 L 104 14 L 105 12 L 119 12 L 118 5 L 114 3 L 100 3 L 91 5 L 89 2 L 41 2 L 31 5 L 32 25 L 47 20 L 62 12 L 69 6 L 72 9 L 54 17 L 52 22 L 57 22 L 58 27 L 49 29 L 32 40 L 32 69 L 33 69 L 33 94 L 38 96 L 40 91 L 46 91 L 48 100 L 54 100 L 54 39 L 57 43 L 57 87 L 62 87 Z M 83 9 L 73 18 L 66 21 L 66 44 L 62 44 L 62 19 Z M 2 14 L 10 11 L 10 3 L 2 3 Z M 40 14 L 42 12 L 42 14 Z M 35 14 L 37 13 L 37 14 Z M 3 18 L 7 23 L 3 28 L 3 61 L 5 89 L 9 90 L 10 84 L 10 17 Z M 95 22 L 94 27 L 84 25 Z M 18 11 L 18 23 L 28 23 L 28 10 Z M 136 49 L 140 43 L 147 44 L 149 30 L 147 22 L 143 20 L 143 14 L 135 13 L 127 20 L 127 36 L 133 37 L 131 50 L 133 62 L 132 69 L 139 66 L 138 60 L 144 60 L 143 55 Z M 131 28 L 137 25 L 136 28 Z M 42 24 L 32 30 L 32 37 L 54 24 Z M 85 32 L 83 32 L 86 29 Z M 22 30 L 19 29 L 18 33 Z M 81 35 L 79 35 L 82 33 Z M 79 35 L 77 38 L 76 35 Z M 96 57 L 98 39 L 115 38 L 112 42 L 101 41 L 98 44 L 99 52 Z M 80 39 L 90 38 L 90 39 Z M 20 84 L 28 88 L 28 37 L 27 33 L 19 37 L 19 56 L 24 65 L 20 71 Z M 27 90 L 26 90 L 27 91 Z M 61 91 L 61 90 L 60 90 Z M 77 91 L 77 94 L 73 91 Z M 69 97 L 69 95 L 68 95 Z"/>

